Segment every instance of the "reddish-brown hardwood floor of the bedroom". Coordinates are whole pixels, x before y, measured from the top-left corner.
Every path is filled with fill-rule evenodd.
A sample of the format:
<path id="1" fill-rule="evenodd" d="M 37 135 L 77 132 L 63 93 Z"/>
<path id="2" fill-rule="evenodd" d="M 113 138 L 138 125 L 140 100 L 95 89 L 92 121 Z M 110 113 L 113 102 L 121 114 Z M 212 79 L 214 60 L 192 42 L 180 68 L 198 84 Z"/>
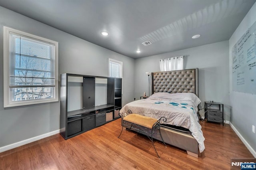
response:
<path id="1" fill-rule="evenodd" d="M 230 158 L 253 158 L 232 128 L 203 123 L 206 150 L 199 158 L 185 150 L 124 130 L 120 119 L 64 140 L 60 134 L 0 153 L 5 169 L 230 169 Z"/>

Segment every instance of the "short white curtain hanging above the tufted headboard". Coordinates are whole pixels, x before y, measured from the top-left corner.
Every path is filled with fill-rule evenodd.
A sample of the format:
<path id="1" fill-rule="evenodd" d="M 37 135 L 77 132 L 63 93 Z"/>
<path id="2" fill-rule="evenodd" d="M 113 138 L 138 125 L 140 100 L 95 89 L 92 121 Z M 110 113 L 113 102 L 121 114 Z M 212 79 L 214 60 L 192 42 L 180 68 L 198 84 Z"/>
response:
<path id="1" fill-rule="evenodd" d="M 171 57 L 166 59 L 160 59 L 159 65 L 161 71 L 173 71 L 173 70 L 183 70 L 183 56 Z"/>

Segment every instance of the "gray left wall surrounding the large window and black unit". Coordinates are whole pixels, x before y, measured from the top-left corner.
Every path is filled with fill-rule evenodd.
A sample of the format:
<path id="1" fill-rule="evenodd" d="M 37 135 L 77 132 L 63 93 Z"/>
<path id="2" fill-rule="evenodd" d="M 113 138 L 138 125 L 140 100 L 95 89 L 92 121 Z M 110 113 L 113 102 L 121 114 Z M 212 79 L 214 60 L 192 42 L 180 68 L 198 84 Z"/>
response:
<path id="1" fill-rule="evenodd" d="M 124 105 L 134 99 L 134 59 L 0 6 L 0 147 L 60 128 L 59 102 L 4 109 L 3 26 L 59 42 L 59 75 L 75 73 L 108 76 L 108 58 L 122 61 L 124 84 L 122 103 Z"/>

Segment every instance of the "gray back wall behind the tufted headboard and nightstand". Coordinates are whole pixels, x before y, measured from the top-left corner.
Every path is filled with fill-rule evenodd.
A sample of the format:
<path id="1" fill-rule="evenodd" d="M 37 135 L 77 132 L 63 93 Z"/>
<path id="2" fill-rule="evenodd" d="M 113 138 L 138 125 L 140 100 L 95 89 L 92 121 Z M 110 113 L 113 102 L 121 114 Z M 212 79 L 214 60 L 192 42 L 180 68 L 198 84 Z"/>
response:
<path id="1" fill-rule="evenodd" d="M 195 40 L 196 41 L 196 40 Z M 199 68 L 199 98 L 204 101 L 224 103 L 224 119 L 229 121 L 229 53 L 228 41 L 202 45 L 170 53 L 136 59 L 135 61 L 135 97 L 139 99 L 146 91 L 148 94 L 148 76 L 146 71 L 160 71 L 159 59 L 186 55 L 184 69 Z M 204 111 L 200 114 L 203 116 Z"/>

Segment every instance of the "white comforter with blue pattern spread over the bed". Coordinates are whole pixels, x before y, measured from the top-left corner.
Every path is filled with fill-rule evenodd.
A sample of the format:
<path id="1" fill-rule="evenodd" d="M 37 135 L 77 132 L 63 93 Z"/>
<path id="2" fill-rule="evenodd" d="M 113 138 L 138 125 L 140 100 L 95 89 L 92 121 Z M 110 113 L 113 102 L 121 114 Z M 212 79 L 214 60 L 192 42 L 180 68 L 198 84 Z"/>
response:
<path id="1" fill-rule="evenodd" d="M 164 124 L 188 128 L 197 140 L 199 151 L 204 151 L 204 136 L 198 123 L 197 106 L 201 103 L 194 93 L 154 93 L 147 99 L 126 104 L 120 113 L 126 116 L 128 110 L 147 117 L 166 117 Z M 163 123 L 163 122 L 161 122 Z"/>

